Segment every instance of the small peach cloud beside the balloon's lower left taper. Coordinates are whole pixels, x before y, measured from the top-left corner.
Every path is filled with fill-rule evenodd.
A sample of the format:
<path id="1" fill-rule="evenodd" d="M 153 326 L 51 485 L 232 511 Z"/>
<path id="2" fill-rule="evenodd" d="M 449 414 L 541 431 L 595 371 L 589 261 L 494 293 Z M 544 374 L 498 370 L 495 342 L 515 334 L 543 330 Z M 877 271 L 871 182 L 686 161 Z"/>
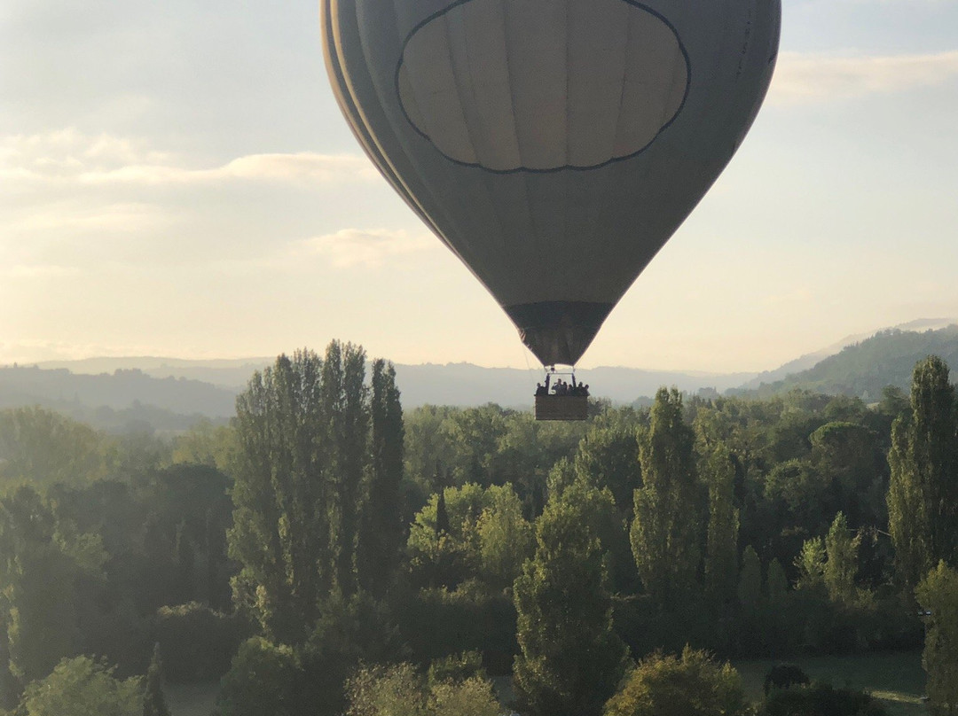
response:
<path id="1" fill-rule="evenodd" d="M 314 236 L 300 243 L 304 256 L 323 257 L 336 268 L 379 267 L 396 258 L 429 251 L 440 245 L 430 235 L 410 235 L 385 229 L 363 231 L 343 229 L 335 234 Z"/>

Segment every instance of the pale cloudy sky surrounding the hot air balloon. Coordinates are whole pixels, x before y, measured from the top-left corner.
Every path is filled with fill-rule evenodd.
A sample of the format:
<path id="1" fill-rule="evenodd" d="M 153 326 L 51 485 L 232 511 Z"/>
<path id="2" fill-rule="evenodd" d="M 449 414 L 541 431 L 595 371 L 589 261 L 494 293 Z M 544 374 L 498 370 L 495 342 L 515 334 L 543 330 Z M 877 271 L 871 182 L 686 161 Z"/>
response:
<path id="1" fill-rule="evenodd" d="M 774 369 L 958 317 L 958 0 L 784 0 L 732 163 L 581 367 Z M 0 365 L 269 356 L 532 369 L 363 156 L 315 2 L 0 4 Z"/>

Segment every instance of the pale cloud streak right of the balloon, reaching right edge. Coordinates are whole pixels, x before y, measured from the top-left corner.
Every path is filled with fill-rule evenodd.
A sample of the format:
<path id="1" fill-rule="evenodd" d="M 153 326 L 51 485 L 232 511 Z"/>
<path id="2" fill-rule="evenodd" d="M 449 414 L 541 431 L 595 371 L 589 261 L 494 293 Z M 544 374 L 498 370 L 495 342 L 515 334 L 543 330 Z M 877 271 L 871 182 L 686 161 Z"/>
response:
<path id="1" fill-rule="evenodd" d="M 782 53 L 768 101 L 776 105 L 890 94 L 958 78 L 958 51 L 933 55 L 833 56 Z"/>

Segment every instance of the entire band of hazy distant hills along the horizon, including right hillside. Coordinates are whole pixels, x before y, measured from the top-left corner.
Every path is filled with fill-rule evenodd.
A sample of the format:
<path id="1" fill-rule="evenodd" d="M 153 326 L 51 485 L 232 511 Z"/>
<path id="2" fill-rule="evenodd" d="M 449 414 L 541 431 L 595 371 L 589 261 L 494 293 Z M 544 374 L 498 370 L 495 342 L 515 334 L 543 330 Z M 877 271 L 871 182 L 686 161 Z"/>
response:
<path id="1" fill-rule="evenodd" d="M 661 386 L 768 395 L 803 388 L 878 399 L 886 385 L 907 389 L 915 363 L 929 353 L 958 370 L 958 325 L 923 320 L 851 336 L 764 373 L 596 368 L 578 377 L 596 397 L 633 403 Z M 849 345 L 851 344 L 851 345 Z M 225 422 L 237 394 L 271 358 L 181 360 L 167 357 L 91 358 L 30 367 L 0 367 L 0 409 L 42 405 L 111 431 L 182 431 L 200 417 Z M 402 405 L 498 403 L 528 410 L 539 369 L 482 368 L 468 363 L 397 365 Z"/>

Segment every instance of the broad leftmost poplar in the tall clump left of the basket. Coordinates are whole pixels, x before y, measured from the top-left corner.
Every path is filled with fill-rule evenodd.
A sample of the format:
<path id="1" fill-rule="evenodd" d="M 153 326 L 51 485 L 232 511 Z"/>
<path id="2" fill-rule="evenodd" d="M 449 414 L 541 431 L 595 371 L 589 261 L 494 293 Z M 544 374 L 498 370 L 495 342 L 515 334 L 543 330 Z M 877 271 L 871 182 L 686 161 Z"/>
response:
<path id="1" fill-rule="evenodd" d="M 242 565 L 241 601 L 285 642 L 308 634 L 334 579 L 321 369 L 311 351 L 281 355 L 237 398 L 230 556 Z"/>

